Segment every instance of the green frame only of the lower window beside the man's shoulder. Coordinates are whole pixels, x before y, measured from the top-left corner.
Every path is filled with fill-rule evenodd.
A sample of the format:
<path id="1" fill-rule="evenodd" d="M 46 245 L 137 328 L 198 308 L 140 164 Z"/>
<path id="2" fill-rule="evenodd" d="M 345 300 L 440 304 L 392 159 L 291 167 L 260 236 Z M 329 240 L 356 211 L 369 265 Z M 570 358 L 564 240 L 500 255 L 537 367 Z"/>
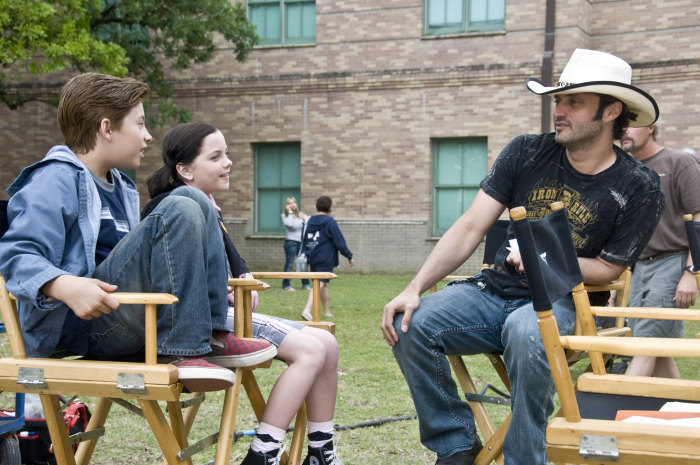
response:
<path id="1" fill-rule="evenodd" d="M 465 146 L 468 144 L 478 144 L 481 146 L 480 148 L 483 150 L 481 153 L 482 158 L 479 160 L 481 165 L 483 166 L 484 170 L 482 173 L 479 174 L 478 181 L 474 182 L 469 182 L 465 183 L 464 181 L 461 181 L 460 183 L 444 183 L 440 184 L 438 181 L 438 175 L 439 175 L 439 148 L 441 144 L 453 144 L 453 143 L 459 143 L 462 145 L 462 160 L 461 160 L 461 165 L 460 168 L 464 169 L 465 168 L 465 163 L 464 163 L 464 157 L 465 157 Z M 469 204 L 464 204 L 460 208 L 460 213 L 457 215 L 454 220 L 450 223 L 450 226 L 443 228 L 439 227 L 440 224 L 440 217 L 439 217 L 439 191 L 440 190 L 447 190 L 447 189 L 459 189 L 460 193 L 460 198 L 464 200 L 464 194 L 465 191 L 473 191 L 473 196 L 474 198 L 476 196 L 476 193 L 480 189 L 480 184 L 481 180 L 488 174 L 488 137 L 486 136 L 469 136 L 469 137 L 439 137 L 439 138 L 433 138 L 430 140 L 430 151 L 431 151 L 431 211 L 430 211 L 430 235 L 433 237 L 440 237 L 442 236 L 449 227 L 454 224 L 454 221 L 461 216 L 471 203 Z"/>

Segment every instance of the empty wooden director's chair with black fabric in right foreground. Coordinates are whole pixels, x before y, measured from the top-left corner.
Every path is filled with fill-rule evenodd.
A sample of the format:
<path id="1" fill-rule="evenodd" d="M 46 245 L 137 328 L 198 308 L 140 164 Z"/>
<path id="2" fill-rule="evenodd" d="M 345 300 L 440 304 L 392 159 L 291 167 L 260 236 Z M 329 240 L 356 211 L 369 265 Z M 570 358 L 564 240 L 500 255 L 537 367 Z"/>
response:
<path id="1" fill-rule="evenodd" d="M 577 318 L 581 320 L 583 335 L 559 336 L 551 311 L 551 302 L 557 296 L 550 297 L 545 288 L 543 269 L 548 265 L 540 259 L 542 249 L 535 246 L 531 223 L 525 215 L 522 207 L 511 210 L 533 306 L 563 411 L 563 417 L 553 418 L 547 426 L 548 459 L 555 463 L 700 464 L 700 428 L 614 421 L 620 406 L 625 410 L 649 410 L 658 409 L 667 400 L 700 402 L 700 381 L 608 374 L 602 357 L 603 353 L 700 357 L 700 340 L 598 337 L 593 328 L 594 312 L 586 314 L 578 307 Z M 565 250 L 573 256 L 578 268 L 571 241 Z M 585 298 L 586 291 L 579 283 L 573 293 L 574 299 Z M 625 316 L 636 317 L 640 309 L 622 310 Z M 696 311 L 693 315 L 693 311 L 676 313 L 674 309 L 643 310 L 648 313 L 645 317 L 668 318 L 669 314 L 684 314 L 700 320 Z M 586 350 L 591 359 L 593 372 L 582 374 L 575 386 L 568 370 L 566 350 Z M 643 407 L 636 407 L 637 403 Z"/>

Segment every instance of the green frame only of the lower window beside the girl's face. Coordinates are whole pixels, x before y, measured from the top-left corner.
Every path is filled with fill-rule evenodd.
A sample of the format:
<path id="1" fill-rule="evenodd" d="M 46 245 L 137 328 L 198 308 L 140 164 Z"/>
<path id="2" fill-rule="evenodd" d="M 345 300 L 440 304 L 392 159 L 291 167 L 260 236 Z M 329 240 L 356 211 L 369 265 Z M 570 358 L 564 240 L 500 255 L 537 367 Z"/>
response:
<path id="1" fill-rule="evenodd" d="M 270 148 L 270 147 L 278 147 L 279 152 L 281 153 L 282 150 L 285 147 L 294 147 L 297 150 L 298 154 L 298 167 L 299 167 L 299 176 L 298 176 L 298 184 L 295 184 L 293 186 L 284 186 L 280 182 L 277 183 L 275 187 L 270 187 L 270 186 L 260 186 L 258 182 L 258 175 L 262 173 L 262 170 L 260 169 L 260 149 L 262 148 Z M 253 234 L 258 235 L 258 236 L 284 236 L 285 235 L 285 230 L 284 230 L 284 224 L 282 223 L 282 206 L 284 202 L 284 198 L 289 197 L 289 196 L 294 196 L 297 199 L 297 202 L 301 201 L 301 142 L 299 141 L 284 141 L 284 142 L 256 142 L 252 144 L 252 149 L 253 149 Z M 281 164 L 279 166 L 280 172 L 281 170 Z M 279 221 L 279 228 L 277 229 L 270 229 L 270 228 L 262 228 L 261 227 L 261 191 L 277 191 L 280 194 L 280 198 L 278 199 L 279 201 L 277 202 L 279 205 L 277 205 L 275 211 L 276 218 Z M 301 205 L 299 203 L 299 205 Z M 270 213 L 272 215 L 272 213 Z"/>

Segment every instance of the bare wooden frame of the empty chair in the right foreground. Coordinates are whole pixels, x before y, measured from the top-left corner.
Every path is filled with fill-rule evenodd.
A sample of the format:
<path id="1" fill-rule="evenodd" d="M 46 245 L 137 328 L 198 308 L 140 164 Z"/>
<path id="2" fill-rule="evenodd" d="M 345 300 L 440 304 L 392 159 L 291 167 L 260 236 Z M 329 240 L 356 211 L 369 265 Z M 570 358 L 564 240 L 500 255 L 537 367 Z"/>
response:
<path id="1" fill-rule="evenodd" d="M 514 221 L 527 221 L 524 208 L 511 210 Z M 531 245 L 520 242 L 523 247 Z M 542 280 L 535 271 L 526 273 L 531 283 Z M 535 286 L 531 291 L 536 292 Z M 581 284 L 574 288 L 574 298 L 585 296 Z M 533 298 L 534 300 L 534 298 Z M 541 300 L 538 299 L 539 301 Z M 551 305 L 551 304 L 550 304 Z M 700 464 L 700 429 L 666 425 L 640 425 L 610 420 L 581 418 L 575 391 L 608 393 L 700 401 L 700 381 L 659 380 L 636 376 L 611 375 L 605 372 L 602 353 L 643 356 L 700 357 L 700 341 L 662 338 L 605 338 L 593 336 L 559 336 L 550 309 L 535 309 L 554 384 L 562 403 L 564 417 L 554 418 L 547 427 L 548 459 L 555 463 L 617 464 Z M 627 309 L 632 314 L 634 309 Z M 658 309 L 665 310 L 665 309 Z M 577 309 L 578 311 L 578 309 Z M 696 312 L 697 313 L 697 312 Z M 657 312 L 657 318 L 666 315 Z M 695 319 L 700 320 L 696 315 Z M 591 315 L 583 320 L 592 323 Z M 586 325 L 588 326 L 588 325 Z M 584 334 L 590 328 L 584 327 Z M 587 350 L 593 373 L 584 373 L 576 387 L 566 363 L 565 350 Z"/>

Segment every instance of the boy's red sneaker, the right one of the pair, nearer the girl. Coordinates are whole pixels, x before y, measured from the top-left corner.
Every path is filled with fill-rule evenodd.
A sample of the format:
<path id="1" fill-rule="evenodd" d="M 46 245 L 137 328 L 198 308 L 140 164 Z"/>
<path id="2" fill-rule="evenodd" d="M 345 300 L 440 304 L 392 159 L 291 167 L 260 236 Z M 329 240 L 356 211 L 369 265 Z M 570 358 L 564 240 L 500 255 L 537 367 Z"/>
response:
<path id="1" fill-rule="evenodd" d="M 215 331 L 209 345 L 212 351 L 204 359 L 226 368 L 257 365 L 277 355 L 277 347 L 267 341 L 237 338 L 228 331 Z"/>

